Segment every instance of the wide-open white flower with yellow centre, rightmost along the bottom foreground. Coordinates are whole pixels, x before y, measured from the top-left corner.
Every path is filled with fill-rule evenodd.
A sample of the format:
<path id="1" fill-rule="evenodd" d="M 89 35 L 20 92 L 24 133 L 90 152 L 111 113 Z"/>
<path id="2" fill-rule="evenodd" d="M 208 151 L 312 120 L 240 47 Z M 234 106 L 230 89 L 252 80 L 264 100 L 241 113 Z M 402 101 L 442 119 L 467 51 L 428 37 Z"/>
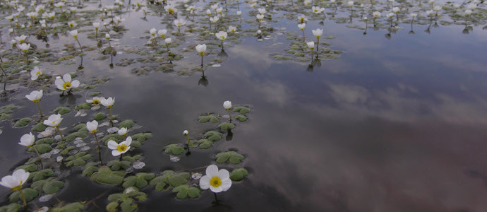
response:
<path id="1" fill-rule="evenodd" d="M 232 180 L 227 170 L 218 170 L 216 165 L 206 168 L 206 175 L 200 178 L 200 188 L 210 189 L 212 192 L 225 192 L 232 187 Z"/>

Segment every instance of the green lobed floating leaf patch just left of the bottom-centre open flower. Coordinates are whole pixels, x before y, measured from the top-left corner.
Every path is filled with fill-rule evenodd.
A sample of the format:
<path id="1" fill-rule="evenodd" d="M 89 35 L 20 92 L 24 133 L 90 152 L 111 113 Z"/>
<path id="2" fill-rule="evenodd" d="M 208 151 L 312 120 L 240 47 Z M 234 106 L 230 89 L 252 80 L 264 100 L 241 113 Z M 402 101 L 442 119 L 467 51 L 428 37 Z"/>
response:
<path id="1" fill-rule="evenodd" d="M 178 187 L 181 184 L 187 184 L 189 179 L 188 172 L 174 173 L 172 170 L 165 170 L 162 175 L 155 177 L 150 181 L 150 185 L 155 187 L 157 192 L 170 187 Z"/>

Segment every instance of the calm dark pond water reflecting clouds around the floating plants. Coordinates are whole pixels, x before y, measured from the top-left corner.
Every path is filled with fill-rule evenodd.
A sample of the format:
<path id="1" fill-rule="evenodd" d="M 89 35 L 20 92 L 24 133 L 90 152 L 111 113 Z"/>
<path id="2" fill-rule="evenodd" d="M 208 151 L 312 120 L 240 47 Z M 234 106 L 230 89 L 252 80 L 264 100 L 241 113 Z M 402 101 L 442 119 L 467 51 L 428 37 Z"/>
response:
<path id="1" fill-rule="evenodd" d="M 240 7 L 244 20 L 251 19 L 248 11 L 253 9 L 242 2 Z M 236 11 L 234 6 L 229 10 Z M 296 20 L 284 18 L 283 11 L 276 12 L 272 17 L 278 22 L 267 25 L 301 35 Z M 140 11 L 124 14 L 123 25 L 129 30 L 113 41 L 122 49 L 120 53 L 124 48 L 144 45 L 148 39 L 140 36 L 148 35 L 143 33 L 145 30 L 167 27 L 160 17 L 148 16 L 145 22 L 142 16 Z M 347 18 L 349 13 L 342 10 L 337 16 Z M 110 59 L 95 60 L 102 54 L 94 51 L 83 57 L 83 75 L 77 79 L 88 83 L 101 77 L 109 81 L 94 90 L 75 93 L 69 100 L 61 99 L 51 86 L 50 93 L 44 90 L 41 107 L 45 112 L 59 105 L 73 107 L 84 102 L 85 95 L 92 91 L 115 96 L 114 113 L 143 126 L 134 133 L 151 131 L 154 135 L 137 150 L 144 155 L 145 172 L 191 170 L 215 163 L 216 153 L 230 149 L 246 156 L 240 165 L 219 165 L 250 171 L 242 182 L 234 182 L 229 191 L 219 194 L 222 204 L 212 206 L 213 196 L 208 191 L 198 199 L 181 201 L 172 192 L 145 187 L 141 191 L 149 199 L 138 203 L 139 211 L 484 211 L 487 30 L 482 30 L 483 25 L 464 34 L 464 25 L 439 25 L 425 33 L 428 25 L 415 24 L 415 34 L 411 35 L 410 25 L 399 23 L 402 29 L 387 39 L 387 29 L 368 28 L 363 35 L 363 30 L 347 28 L 363 27 L 359 18 L 353 23 L 335 23 L 329 17 L 324 25 L 319 22 L 308 20 L 306 40 L 313 36 L 311 29 L 324 28 L 324 36 L 335 39 L 322 42 L 343 53 L 338 59 L 320 61 L 313 71 L 308 69 L 309 62 L 272 59 L 273 53 L 284 54 L 291 42 L 282 33 L 271 34 L 263 41 L 240 37 L 241 43 L 225 47 L 227 59 L 220 67 L 205 71 L 207 86 L 201 85 L 200 72 L 191 76 L 176 73 L 199 65 L 194 51 L 174 61 L 176 72 L 152 71 L 142 76 L 131 73 L 142 64 L 110 69 Z M 256 26 L 244 22 L 241 28 Z M 95 45 L 83 35 L 83 45 Z M 6 28 L 3 36 L 7 40 Z M 31 36 L 30 41 L 42 46 L 35 37 Z M 62 35 L 50 42 L 50 48 L 61 49 L 56 42 L 73 40 Z M 189 37 L 181 47 L 198 43 Z M 113 63 L 134 57 L 140 56 L 117 54 Z M 215 56 L 205 57 L 205 64 L 209 58 Z M 42 67 L 57 76 L 76 71 L 80 62 L 80 57 L 75 57 L 71 65 L 47 63 Z M 1 105 L 13 102 L 20 106 L 12 119 L 37 112 L 35 105 L 23 98 L 32 88 L 7 84 L 6 89 L 11 92 L 1 98 Z M 171 162 L 164 146 L 184 142 L 184 129 L 195 137 L 213 129 L 214 124 L 200 124 L 197 117 L 206 112 L 224 114 L 224 100 L 248 105 L 252 110 L 247 122 L 237 123 L 232 140 L 222 139 L 209 150 L 195 149 L 191 155 L 181 156 L 179 162 Z M 91 117 L 75 118 L 74 114 L 66 114 L 62 125 L 88 122 Z M 17 144 L 31 126 L 12 125 L 11 120 L 0 123 L 2 176 L 11 175 L 13 168 L 32 156 Z M 109 151 L 104 151 L 103 157 L 110 158 Z M 73 168 L 71 174 L 59 177 L 65 182 L 64 189 L 56 194 L 59 199 L 86 201 L 104 194 L 96 200 L 100 208 L 85 208 L 102 211 L 109 194 L 123 192 L 121 186 L 92 182 L 80 175 L 82 170 Z M 8 204 L 9 194 L 8 189 L 1 189 L 2 205 Z M 35 202 L 39 206 L 57 203 L 54 199 Z"/>

